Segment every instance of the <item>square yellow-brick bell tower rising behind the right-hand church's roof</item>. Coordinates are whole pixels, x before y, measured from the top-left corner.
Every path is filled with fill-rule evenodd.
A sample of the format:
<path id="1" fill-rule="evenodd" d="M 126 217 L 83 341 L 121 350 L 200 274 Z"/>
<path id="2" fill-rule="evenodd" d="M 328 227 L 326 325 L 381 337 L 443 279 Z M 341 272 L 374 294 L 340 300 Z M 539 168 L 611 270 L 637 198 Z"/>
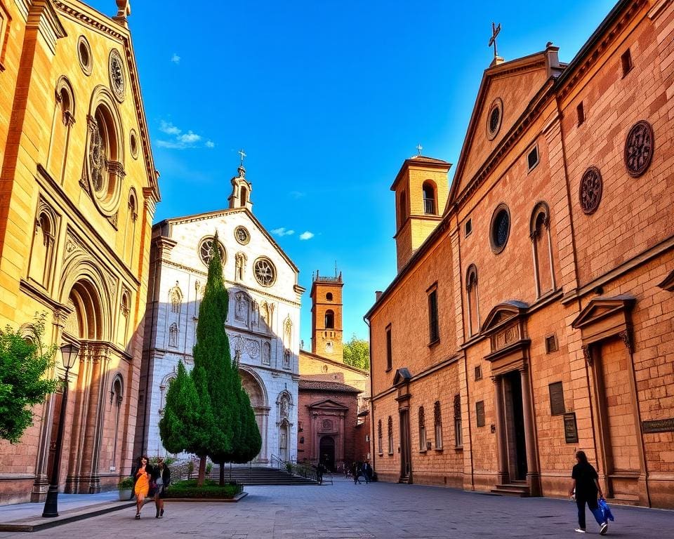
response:
<path id="1" fill-rule="evenodd" d="M 400 167 L 391 191 L 395 192 L 395 246 L 398 272 L 442 221 L 449 197 L 447 173 L 451 163 L 419 154 Z"/>

